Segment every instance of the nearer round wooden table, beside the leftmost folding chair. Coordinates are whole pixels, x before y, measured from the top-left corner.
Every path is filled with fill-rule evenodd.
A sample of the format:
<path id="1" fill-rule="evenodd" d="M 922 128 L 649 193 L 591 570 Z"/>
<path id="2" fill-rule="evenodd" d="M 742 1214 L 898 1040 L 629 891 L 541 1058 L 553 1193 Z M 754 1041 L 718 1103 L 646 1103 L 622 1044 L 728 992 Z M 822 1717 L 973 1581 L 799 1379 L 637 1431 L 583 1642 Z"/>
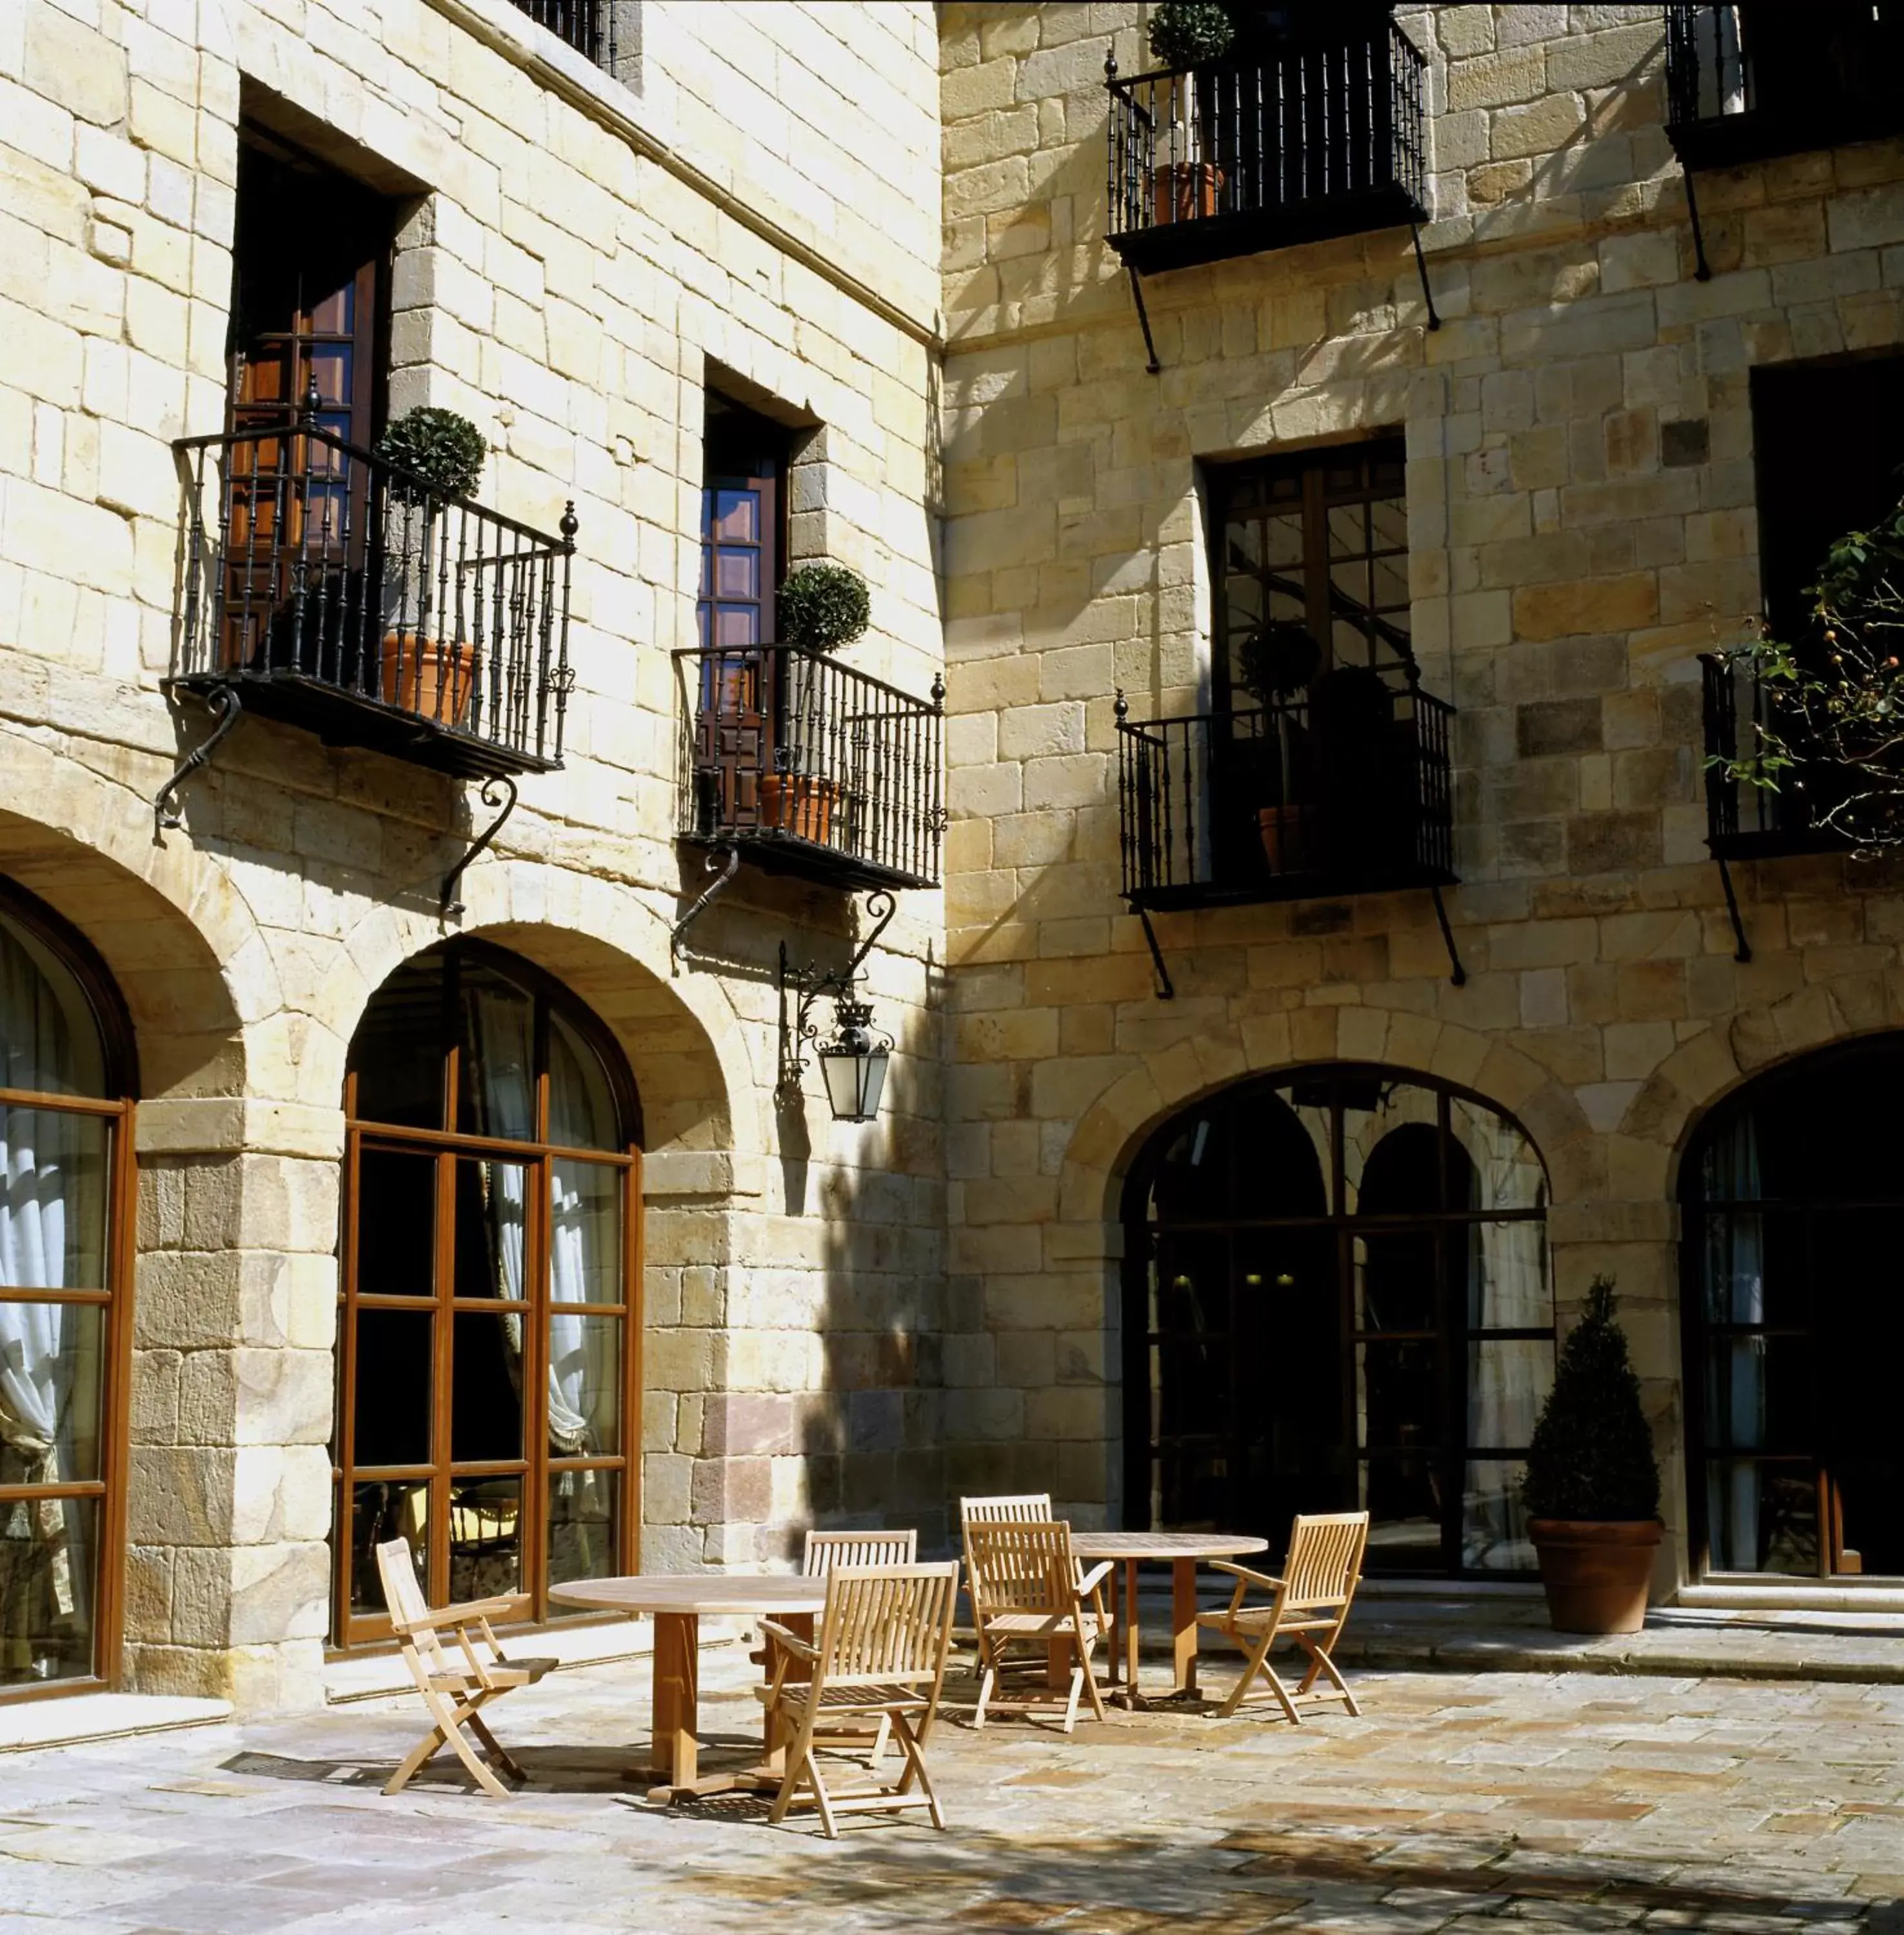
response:
<path id="1" fill-rule="evenodd" d="M 633 1579 L 577 1579 L 550 1587 L 561 1606 L 596 1612 L 646 1612 L 654 1618 L 654 1761 L 650 1800 L 726 1794 L 774 1776 L 772 1743 L 766 1765 L 700 1774 L 700 1620 L 733 1616 L 780 1618 L 811 1637 L 813 1618 L 826 1610 L 826 1581 L 791 1573 L 642 1573 Z"/>

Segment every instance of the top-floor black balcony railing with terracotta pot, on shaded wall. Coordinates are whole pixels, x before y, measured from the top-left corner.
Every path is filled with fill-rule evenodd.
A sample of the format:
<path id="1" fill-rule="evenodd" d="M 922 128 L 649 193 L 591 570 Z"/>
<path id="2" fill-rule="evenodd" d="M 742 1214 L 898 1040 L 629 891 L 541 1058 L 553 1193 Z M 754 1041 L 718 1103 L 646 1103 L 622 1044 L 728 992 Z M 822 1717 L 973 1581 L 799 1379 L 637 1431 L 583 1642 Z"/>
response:
<path id="1" fill-rule="evenodd" d="M 1111 87 L 1111 246 L 1136 269 L 1428 219 L 1426 62 L 1393 23 Z"/>

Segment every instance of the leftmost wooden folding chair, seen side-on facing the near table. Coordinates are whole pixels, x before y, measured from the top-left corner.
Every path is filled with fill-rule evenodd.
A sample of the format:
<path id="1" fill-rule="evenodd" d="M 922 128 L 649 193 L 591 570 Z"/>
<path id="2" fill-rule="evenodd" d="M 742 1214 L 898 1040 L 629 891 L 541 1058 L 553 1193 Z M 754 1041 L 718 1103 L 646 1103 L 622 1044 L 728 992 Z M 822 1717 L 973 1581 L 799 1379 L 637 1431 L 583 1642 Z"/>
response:
<path id="1" fill-rule="evenodd" d="M 509 1790 L 482 1763 L 468 1734 L 482 1743 L 488 1759 L 511 1780 L 528 1776 L 509 1757 L 497 1738 L 482 1718 L 482 1709 L 501 1699 L 515 1687 L 534 1685 L 544 1674 L 555 1670 L 555 1660 L 511 1660 L 495 1643 L 490 1631 L 493 1614 L 515 1612 L 515 1598 L 474 1598 L 461 1606 L 439 1606 L 430 1610 L 424 1604 L 422 1587 L 416 1583 L 416 1565 L 410 1560 L 410 1546 L 402 1538 L 393 1538 L 377 1546 L 377 1573 L 383 1577 L 383 1604 L 391 1612 L 391 1629 L 402 1647 L 404 1664 L 416 1682 L 416 1691 L 424 1695 L 424 1707 L 435 1726 L 410 1751 L 410 1757 L 391 1774 L 385 1794 L 395 1794 L 408 1786 L 410 1778 L 441 1747 L 455 1749 L 457 1759 L 476 1776 L 476 1784 L 497 1800 L 507 1800 Z M 468 1728 L 468 1734 L 464 1734 Z"/>

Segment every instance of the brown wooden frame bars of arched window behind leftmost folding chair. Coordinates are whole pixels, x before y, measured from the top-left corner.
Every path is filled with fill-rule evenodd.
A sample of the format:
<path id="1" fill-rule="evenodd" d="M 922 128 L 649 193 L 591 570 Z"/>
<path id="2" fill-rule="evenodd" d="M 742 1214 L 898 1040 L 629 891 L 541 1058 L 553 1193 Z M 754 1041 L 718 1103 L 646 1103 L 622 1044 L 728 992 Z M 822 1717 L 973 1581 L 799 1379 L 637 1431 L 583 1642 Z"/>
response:
<path id="1" fill-rule="evenodd" d="M 431 1604 L 445 1604 L 449 1589 L 451 1496 L 459 1482 L 484 1476 L 515 1478 L 521 1484 L 517 1511 L 519 1579 L 521 1587 L 507 1594 L 517 1612 L 507 1623 L 546 1623 L 550 1610 L 548 1581 L 548 1482 L 563 1471 L 613 1471 L 619 1474 L 615 1540 L 625 1571 L 640 1569 L 640 1492 L 642 1492 L 642 1151 L 640 1109 L 633 1076 L 619 1043 L 600 1018 L 553 975 L 503 948 L 482 940 L 453 940 L 441 950 L 447 958 L 443 975 L 443 1020 L 437 1055 L 443 1068 L 441 1120 L 455 1122 L 461 1105 L 462 1045 L 453 1024 L 453 975 L 457 962 L 474 962 L 493 969 L 534 998 L 534 1128 L 528 1140 L 470 1134 L 453 1128 L 418 1128 L 414 1124 L 375 1122 L 358 1115 L 358 1072 L 344 1076 L 344 1188 L 339 1236 L 339 1333 L 337 1333 L 337 1407 L 331 1444 L 331 1486 L 335 1498 L 335 1529 L 331 1552 L 331 1645 L 333 1651 L 352 1651 L 389 1643 L 387 1614 L 358 1614 L 352 1606 L 354 1500 L 358 1484 L 424 1484 L 430 1509 L 426 1523 L 424 1593 Z M 617 1126 L 623 1144 L 617 1149 L 584 1149 L 548 1140 L 550 1118 L 550 1014 L 559 1008 L 565 1022 L 596 1053 L 610 1084 Z M 358 1215 L 362 1200 L 364 1149 L 399 1149 L 431 1159 L 435 1221 L 431 1246 L 431 1289 L 428 1295 L 362 1295 L 358 1291 Z M 528 1296 L 522 1300 L 468 1298 L 455 1291 L 457 1242 L 457 1167 L 464 1161 L 521 1163 L 524 1178 L 524 1244 L 522 1271 Z M 621 1285 L 615 1304 L 557 1304 L 550 1298 L 550 1188 L 555 1161 L 590 1163 L 621 1176 Z M 430 1459 L 422 1465 L 358 1465 L 356 1461 L 356 1349 L 360 1310 L 397 1310 L 430 1314 L 431 1320 L 431 1395 L 430 1395 Z M 522 1453 L 513 1459 L 457 1459 L 451 1455 L 455 1416 L 455 1320 L 474 1312 L 522 1316 Z M 548 1449 L 548 1325 L 555 1312 L 590 1318 L 613 1318 L 621 1325 L 621 1413 L 619 1445 L 613 1455 L 551 1457 Z M 443 1536 L 435 1527 L 445 1527 Z"/>

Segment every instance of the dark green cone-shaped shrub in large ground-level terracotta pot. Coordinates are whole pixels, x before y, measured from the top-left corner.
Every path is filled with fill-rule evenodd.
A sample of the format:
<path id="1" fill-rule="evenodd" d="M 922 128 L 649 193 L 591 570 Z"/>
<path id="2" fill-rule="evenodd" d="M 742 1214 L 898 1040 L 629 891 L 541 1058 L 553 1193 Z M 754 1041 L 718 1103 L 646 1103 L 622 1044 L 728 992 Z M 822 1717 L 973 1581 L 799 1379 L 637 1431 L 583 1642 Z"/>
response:
<path id="1" fill-rule="evenodd" d="M 1534 1519 L 1656 1519 L 1660 1467 L 1639 1378 L 1614 1318 L 1612 1277 L 1594 1277 L 1567 1333 L 1554 1389 L 1527 1447 L 1521 1498 Z"/>

